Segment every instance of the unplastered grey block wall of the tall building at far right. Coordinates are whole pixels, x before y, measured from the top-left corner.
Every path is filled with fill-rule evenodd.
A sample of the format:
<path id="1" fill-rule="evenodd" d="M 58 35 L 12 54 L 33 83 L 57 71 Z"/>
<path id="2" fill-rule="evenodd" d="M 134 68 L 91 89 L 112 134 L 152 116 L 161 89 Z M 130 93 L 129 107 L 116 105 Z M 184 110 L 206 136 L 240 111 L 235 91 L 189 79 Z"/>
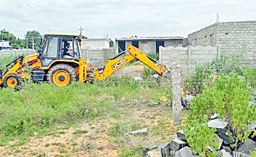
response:
<path id="1" fill-rule="evenodd" d="M 256 21 L 215 23 L 188 35 L 188 44 L 221 47 L 220 53 L 239 53 L 244 48 L 247 59 L 256 59 Z"/>

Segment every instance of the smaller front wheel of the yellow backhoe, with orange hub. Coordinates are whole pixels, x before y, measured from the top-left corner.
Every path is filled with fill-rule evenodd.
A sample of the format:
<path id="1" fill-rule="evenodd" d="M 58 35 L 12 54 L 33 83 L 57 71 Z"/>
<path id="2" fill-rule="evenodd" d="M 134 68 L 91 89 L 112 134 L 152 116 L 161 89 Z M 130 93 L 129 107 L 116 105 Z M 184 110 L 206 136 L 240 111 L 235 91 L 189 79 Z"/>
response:
<path id="1" fill-rule="evenodd" d="M 21 85 L 21 76 L 16 73 L 8 74 L 4 78 L 3 86 L 10 87 L 10 88 L 17 88 L 17 86 Z"/>

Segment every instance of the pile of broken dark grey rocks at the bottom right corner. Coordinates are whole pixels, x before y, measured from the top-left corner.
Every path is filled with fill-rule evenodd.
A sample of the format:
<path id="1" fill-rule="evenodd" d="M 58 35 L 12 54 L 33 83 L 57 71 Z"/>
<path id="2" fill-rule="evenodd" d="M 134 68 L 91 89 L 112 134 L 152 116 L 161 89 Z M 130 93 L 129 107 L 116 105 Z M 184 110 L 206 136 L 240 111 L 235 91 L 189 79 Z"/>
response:
<path id="1" fill-rule="evenodd" d="M 234 151 L 230 147 L 229 141 L 229 132 L 231 131 L 228 128 L 228 123 L 218 119 L 216 115 L 213 115 L 212 120 L 209 121 L 208 127 L 215 127 L 217 129 L 216 134 L 218 138 L 216 139 L 216 143 L 219 144 L 217 149 L 217 157 L 250 157 L 252 151 L 256 148 L 255 139 L 245 139 L 244 143 L 239 145 L 238 149 Z M 255 125 L 252 125 L 255 129 Z M 214 151 L 213 148 L 210 150 Z M 184 130 L 179 130 L 173 135 L 173 139 L 171 142 L 160 143 L 158 146 L 149 150 L 148 148 L 144 150 L 144 155 L 146 157 L 199 157 L 194 152 L 192 152 L 189 147 L 187 141 L 185 140 Z"/>

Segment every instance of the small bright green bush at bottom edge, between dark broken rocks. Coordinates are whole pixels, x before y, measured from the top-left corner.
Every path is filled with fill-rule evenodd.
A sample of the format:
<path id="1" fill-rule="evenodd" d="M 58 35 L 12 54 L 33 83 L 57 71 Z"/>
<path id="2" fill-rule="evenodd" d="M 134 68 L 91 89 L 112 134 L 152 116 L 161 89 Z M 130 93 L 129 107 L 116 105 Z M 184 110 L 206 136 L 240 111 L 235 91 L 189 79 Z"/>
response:
<path id="1" fill-rule="evenodd" d="M 209 147 L 215 151 L 218 143 L 215 143 L 217 134 L 216 128 L 209 128 L 207 125 L 208 116 L 202 116 L 201 121 L 193 120 L 184 126 L 184 134 L 191 150 L 198 153 L 200 157 L 216 157 L 216 152 L 211 152 Z"/>

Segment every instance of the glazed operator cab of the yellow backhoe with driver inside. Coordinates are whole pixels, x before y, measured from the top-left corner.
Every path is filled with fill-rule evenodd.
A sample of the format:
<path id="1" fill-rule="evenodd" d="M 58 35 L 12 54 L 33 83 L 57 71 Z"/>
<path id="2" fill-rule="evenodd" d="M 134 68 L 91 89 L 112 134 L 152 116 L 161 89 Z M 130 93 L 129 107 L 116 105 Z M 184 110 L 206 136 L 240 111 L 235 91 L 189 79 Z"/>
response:
<path id="1" fill-rule="evenodd" d="M 47 67 L 56 59 L 79 61 L 82 58 L 80 44 L 81 38 L 78 35 L 45 34 L 40 51 L 42 66 Z"/>

